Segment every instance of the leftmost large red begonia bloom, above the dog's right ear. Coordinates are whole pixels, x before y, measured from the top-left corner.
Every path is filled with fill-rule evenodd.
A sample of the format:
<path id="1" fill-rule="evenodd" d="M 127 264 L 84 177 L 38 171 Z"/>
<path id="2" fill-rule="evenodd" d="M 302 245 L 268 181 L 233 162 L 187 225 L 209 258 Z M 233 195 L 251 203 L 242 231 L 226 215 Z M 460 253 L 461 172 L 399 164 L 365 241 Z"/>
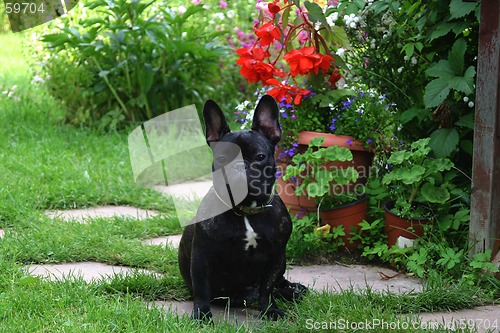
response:
<path id="1" fill-rule="evenodd" d="M 263 62 L 264 59 L 270 57 L 270 54 L 260 47 L 241 48 L 236 50 L 236 53 L 240 55 L 240 58 L 236 61 L 241 66 L 240 74 L 249 83 L 262 81 L 265 84 L 267 80 L 274 76 L 283 77 L 285 75 L 274 66 Z"/>

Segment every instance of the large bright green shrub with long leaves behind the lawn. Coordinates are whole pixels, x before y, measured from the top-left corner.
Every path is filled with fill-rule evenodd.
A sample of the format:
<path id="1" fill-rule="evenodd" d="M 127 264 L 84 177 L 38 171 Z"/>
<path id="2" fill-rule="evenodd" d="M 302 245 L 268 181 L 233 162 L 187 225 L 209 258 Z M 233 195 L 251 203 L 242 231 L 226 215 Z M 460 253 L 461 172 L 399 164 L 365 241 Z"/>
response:
<path id="1" fill-rule="evenodd" d="M 227 54 L 201 17 L 161 1 L 92 0 L 44 34 L 38 80 L 68 109 L 72 123 L 120 127 L 189 104 L 220 82 Z"/>

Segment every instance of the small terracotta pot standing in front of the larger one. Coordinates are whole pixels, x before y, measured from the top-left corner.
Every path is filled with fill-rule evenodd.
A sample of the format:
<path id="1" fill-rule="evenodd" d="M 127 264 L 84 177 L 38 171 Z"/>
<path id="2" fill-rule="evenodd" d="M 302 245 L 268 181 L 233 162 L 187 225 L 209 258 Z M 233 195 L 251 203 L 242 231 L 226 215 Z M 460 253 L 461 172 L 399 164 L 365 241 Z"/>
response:
<path id="1" fill-rule="evenodd" d="M 345 247 L 349 250 L 355 250 L 359 246 L 359 241 L 349 242 L 351 231 L 359 231 L 359 223 L 367 219 L 368 213 L 368 197 L 348 203 L 344 206 L 321 209 L 321 222 L 330 225 L 334 228 L 339 225 L 344 226 L 346 235 L 342 237 Z"/>

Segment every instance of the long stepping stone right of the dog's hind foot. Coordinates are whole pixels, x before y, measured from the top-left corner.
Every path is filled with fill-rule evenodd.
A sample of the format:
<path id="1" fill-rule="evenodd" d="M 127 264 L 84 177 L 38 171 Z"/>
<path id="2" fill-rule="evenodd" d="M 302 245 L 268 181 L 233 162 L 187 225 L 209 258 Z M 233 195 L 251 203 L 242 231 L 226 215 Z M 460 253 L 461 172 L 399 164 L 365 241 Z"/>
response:
<path id="1" fill-rule="evenodd" d="M 385 279 L 387 277 L 392 277 Z M 389 291 L 394 294 L 419 292 L 420 280 L 398 275 L 396 271 L 375 266 L 361 265 L 312 265 L 295 266 L 285 273 L 291 282 L 300 282 L 314 290 L 342 292 L 351 287 L 376 291 Z"/>

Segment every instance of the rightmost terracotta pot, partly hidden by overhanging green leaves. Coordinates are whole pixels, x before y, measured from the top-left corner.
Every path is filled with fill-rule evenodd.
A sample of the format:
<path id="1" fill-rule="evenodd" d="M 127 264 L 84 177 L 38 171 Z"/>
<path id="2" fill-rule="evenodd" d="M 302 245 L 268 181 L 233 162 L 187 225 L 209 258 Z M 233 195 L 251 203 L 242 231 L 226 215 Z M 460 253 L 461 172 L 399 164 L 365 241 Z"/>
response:
<path id="1" fill-rule="evenodd" d="M 384 204 L 385 233 L 389 248 L 397 244 L 399 237 L 417 239 L 424 235 L 424 226 L 429 223 L 427 218 L 407 219 L 392 212 L 394 201 Z"/>

